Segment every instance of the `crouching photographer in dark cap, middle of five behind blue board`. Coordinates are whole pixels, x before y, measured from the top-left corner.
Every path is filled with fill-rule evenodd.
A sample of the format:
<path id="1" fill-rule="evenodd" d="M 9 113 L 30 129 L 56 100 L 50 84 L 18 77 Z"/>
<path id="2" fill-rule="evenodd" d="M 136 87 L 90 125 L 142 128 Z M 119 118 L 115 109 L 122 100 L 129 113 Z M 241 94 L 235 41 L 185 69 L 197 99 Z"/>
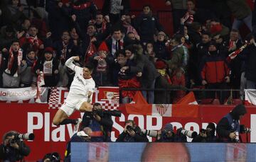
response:
<path id="1" fill-rule="evenodd" d="M 175 134 L 173 125 L 171 125 L 171 123 L 167 123 L 164 126 L 164 129 L 159 132 L 156 141 L 186 142 L 186 136 L 181 133 Z"/>

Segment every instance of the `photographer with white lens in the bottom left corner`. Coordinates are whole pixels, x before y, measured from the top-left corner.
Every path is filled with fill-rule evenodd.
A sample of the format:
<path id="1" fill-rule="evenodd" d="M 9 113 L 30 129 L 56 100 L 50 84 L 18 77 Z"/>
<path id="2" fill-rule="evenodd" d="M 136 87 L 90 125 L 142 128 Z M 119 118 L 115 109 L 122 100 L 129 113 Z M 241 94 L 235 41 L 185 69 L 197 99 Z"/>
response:
<path id="1" fill-rule="evenodd" d="M 3 144 L 0 145 L 0 159 L 4 161 L 21 161 L 28 156 L 30 149 L 19 133 L 16 131 L 6 132 L 3 137 Z"/>

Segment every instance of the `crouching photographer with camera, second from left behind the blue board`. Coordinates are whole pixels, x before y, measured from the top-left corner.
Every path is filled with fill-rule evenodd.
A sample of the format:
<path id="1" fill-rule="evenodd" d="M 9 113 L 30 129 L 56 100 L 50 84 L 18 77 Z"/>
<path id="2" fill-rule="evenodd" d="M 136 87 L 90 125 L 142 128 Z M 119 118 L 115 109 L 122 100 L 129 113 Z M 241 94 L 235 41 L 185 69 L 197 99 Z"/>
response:
<path id="1" fill-rule="evenodd" d="M 142 130 L 136 126 L 135 122 L 133 120 L 127 120 L 125 121 L 124 126 L 124 132 L 122 134 L 119 134 L 119 137 L 116 141 L 149 141 L 149 139 L 146 138 L 146 135 L 142 134 Z"/>

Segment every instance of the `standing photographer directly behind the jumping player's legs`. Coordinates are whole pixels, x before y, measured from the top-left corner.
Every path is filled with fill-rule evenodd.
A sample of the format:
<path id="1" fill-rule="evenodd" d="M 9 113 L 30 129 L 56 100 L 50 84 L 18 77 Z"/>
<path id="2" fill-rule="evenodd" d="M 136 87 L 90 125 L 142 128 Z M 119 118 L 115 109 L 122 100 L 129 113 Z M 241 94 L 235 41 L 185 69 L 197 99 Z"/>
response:
<path id="1" fill-rule="evenodd" d="M 100 103 L 95 103 L 92 112 L 85 112 L 83 115 L 81 129 L 84 127 L 92 129 L 91 141 L 111 141 L 112 125 L 111 115 L 104 112 Z"/>

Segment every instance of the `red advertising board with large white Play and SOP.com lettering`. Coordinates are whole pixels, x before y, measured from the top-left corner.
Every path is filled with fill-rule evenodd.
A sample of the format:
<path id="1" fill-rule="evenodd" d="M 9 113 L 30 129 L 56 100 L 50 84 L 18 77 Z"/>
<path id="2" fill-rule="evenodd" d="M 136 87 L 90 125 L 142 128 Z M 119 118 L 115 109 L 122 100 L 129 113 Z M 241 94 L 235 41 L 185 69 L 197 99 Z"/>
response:
<path id="1" fill-rule="evenodd" d="M 125 120 L 135 120 L 139 127 L 143 129 L 159 130 L 167 122 L 174 125 L 174 129 L 183 127 L 196 132 L 203 127 L 205 128 L 208 122 L 218 123 L 221 117 L 226 115 L 233 106 L 212 106 L 200 105 L 200 115 L 198 118 L 180 118 L 180 117 L 161 117 L 161 116 L 143 116 L 143 115 L 127 115 L 124 107 L 122 117 L 112 117 L 114 120 L 112 141 L 118 137 L 123 131 Z M 63 158 L 66 142 L 73 135 L 73 126 L 66 125 L 55 127 L 52 124 L 53 117 L 57 110 L 48 109 L 47 104 L 6 104 L 0 103 L 1 113 L 1 136 L 10 130 L 16 130 L 20 133 L 34 133 L 33 141 L 26 141 L 26 144 L 31 148 L 31 154 L 26 157 L 26 161 L 36 161 L 46 153 L 57 151 Z M 80 112 L 75 112 L 71 118 L 80 117 Z M 252 129 L 249 140 L 256 142 L 256 107 L 248 106 L 247 115 L 240 122 Z M 252 138 L 250 138 L 252 137 Z M 243 136 L 243 141 L 246 141 Z"/>

